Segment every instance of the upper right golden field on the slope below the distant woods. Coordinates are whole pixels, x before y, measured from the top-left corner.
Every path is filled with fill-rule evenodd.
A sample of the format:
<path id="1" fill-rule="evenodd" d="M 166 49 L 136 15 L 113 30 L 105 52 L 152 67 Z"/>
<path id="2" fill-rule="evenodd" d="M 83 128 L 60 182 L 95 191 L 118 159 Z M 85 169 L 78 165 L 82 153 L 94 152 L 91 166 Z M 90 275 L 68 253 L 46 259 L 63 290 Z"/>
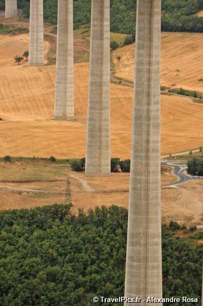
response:
<path id="1" fill-rule="evenodd" d="M 161 85 L 183 87 L 203 93 L 203 34 L 161 34 Z M 118 60 L 121 57 L 121 60 Z M 115 75 L 128 81 L 134 79 L 135 44 L 115 50 L 112 60 Z"/>

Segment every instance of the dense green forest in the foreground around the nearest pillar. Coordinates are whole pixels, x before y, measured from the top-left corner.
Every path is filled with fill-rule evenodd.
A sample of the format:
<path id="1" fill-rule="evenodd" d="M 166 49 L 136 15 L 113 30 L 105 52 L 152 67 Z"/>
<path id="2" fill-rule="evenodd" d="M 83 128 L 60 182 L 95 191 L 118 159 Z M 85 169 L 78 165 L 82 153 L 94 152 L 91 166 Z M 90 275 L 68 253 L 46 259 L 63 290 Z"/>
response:
<path id="1" fill-rule="evenodd" d="M 70 205 L 0 212 L 0 304 L 90 306 L 94 296 L 123 296 L 127 220 L 116 206 L 77 216 Z M 197 297 L 200 306 L 203 233 L 184 229 L 184 239 L 179 228 L 162 227 L 163 295 Z"/>

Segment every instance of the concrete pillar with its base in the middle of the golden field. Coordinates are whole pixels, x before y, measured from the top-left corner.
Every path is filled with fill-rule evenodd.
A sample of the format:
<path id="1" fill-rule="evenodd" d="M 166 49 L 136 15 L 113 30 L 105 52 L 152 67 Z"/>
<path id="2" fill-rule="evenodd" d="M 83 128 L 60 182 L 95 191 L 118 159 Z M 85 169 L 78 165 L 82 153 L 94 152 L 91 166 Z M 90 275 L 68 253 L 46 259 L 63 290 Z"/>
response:
<path id="1" fill-rule="evenodd" d="M 73 0 L 59 0 L 54 119 L 74 119 Z"/>

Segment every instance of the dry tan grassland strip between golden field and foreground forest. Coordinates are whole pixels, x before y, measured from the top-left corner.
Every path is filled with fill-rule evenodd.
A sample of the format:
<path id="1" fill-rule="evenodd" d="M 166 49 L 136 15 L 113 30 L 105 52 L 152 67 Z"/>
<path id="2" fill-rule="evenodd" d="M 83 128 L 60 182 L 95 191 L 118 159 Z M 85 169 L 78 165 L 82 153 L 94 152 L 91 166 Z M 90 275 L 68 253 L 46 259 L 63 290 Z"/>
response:
<path id="1" fill-rule="evenodd" d="M 33 166 L 33 168 L 32 168 Z M 23 169 L 22 169 L 23 167 Z M 21 171 L 23 170 L 23 171 Z M 8 179 L 41 179 L 42 182 L 0 183 L 21 190 L 11 192 L 0 186 L 0 210 L 31 208 L 63 203 L 65 199 L 66 178 L 70 170 L 60 165 L 14 165 L 0 164 L 1 177 Z M 97 206 L 118 205 L 128 208 L 129 173 L 112 173 L 107 178 L 85 177 L 84 173 L 75 173 L 79 179 L 84 179 L 89 187 L 101 192 L 85 192 L 80 181 L 69 176 L 71 181 L 73 211 L 78 208 L 88 210 Z M 46 182 L 48 179 L 59 181 Z M 161 183 L 169 184 L 176 180 L 168 170 L 161 175 Z M 202 215 L 202 186 L 198 182 L 185 184 L 175 188 L 162 188 L 162 218 L 164 221 L 175 219 L 181 222 L 199 222 Z M 25 189 L 25 190 L 23 190 Z M 43 190 L 47 193 L 33 193 L 26 189 Z M 116 192 L 115 190 L 120 190 Z M 58 192 L 50 194 L 49 192 Z M 110 192 L 106 192 L 110 191 Z M 82 192 L 82 193 L 81 193 Z M 192 205 L 191 205 L 192 203 Z"/>

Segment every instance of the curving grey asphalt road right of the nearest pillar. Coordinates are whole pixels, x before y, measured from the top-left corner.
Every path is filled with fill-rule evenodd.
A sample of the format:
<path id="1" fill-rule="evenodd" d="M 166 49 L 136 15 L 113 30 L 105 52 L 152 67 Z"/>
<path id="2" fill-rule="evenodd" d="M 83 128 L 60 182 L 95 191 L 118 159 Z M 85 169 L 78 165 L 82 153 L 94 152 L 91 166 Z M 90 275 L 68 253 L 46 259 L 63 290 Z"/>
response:
<path id="1" fill-rule="evenodd" d="M 194 180 L 200 180 L 199 176 L 192 176 L 190 174 L 187 174 L 187 166 L 186 165 L 176 165 L 175 163 L 183 163 L 184 161 L 170 161 L 170 162 L 161 162 L 162 166 L 169 166 L 173 168 L 173 175 L 177 176 L 177 181 L 172 183 L 172 184 L 168 184 L 168 185 L 163 185 L 161 187 L 171 187 L 171 186 L 176 186 L 176 185 L 181 185 L 181 184 L 185 184 L 188 183 L 190 181 L 194 181 Z"/>

